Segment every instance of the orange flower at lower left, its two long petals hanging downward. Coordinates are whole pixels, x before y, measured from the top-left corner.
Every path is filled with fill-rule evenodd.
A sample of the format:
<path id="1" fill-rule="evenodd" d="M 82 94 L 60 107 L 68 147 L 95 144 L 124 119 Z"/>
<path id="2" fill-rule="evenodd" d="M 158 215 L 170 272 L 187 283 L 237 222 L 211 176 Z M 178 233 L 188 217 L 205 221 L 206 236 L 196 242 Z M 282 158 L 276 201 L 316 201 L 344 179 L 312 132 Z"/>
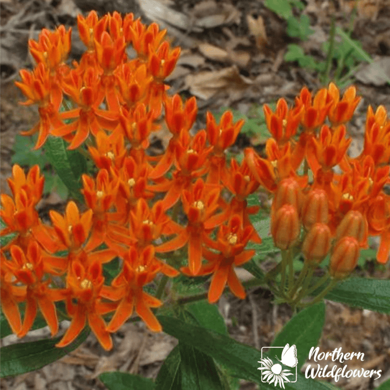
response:
<path id="1" fill-rule="evenodd" d="M 12 271 L 17 280 L 24 284 L 26 289 L 26 310 L 23 325 L 17 333 L 23 337 L 33 325 L 39 307 L 52 335 L 58 331 L 58 319 L 54 301 L 62 300 L 62 292 L 49 288 L 50 280 L 43 280 L 45 267 L 49 259 L 42 256 L 39 245 L 30 241 L 26 255 L 20 247 L 11 246 L 12 261 L 7 261 L 6 266 Z"/>

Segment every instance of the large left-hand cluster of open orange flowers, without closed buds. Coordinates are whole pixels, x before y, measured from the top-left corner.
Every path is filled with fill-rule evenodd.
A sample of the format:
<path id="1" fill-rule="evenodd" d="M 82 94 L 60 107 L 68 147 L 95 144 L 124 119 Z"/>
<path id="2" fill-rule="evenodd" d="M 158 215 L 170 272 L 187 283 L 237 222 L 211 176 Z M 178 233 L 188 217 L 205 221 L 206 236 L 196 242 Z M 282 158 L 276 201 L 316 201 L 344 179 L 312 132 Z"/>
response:
<path id="1" fill-rule="evenodd" d="M 234 266 L 254 255 L 244 250 L 250 239 L 261 242 L 249 219 L 258 207 L 246 202 L 259 183 L 246 161 L 227 164 L 224 152 L 243 125 L 242 120 L 233 122 L 231 112 L 219 123 L 208 114 L 206 129 L 190 133 L 195 98 L 183 102 L 166 94 L 164 78 L 180 50 L 164 41 L 165 31 L 155 23 L 143 25 L 132 14 L 98 19 L 95 12 L 78 16 L 78 30 L 87 46 L 79 63 L 65 63 L 70 30 L 43 30 L 37 42 L 29 42 L 37 66 L 32 72 L 22 70 L 17 85 L 28 98 L 25 104 L 39 106 L 39 123 L 25 133 L 39 133 L 36 148 L 49 136 L 62 137 L 69 149 L 85 142 L 98 172 L 80 178 L 84 211 L 70 201 L 64 215 L 50 211 L 49 226 L 36 210 L 44 180 L 38 166 L 27 176 L 14 166 L 8 180 L 13 196 L 1 195 L 6 224 L 1 235 L 15 234 L 1 252 L 1 305 L 20 337 L 31 328 L 38 308 L 54 335 L 54 303 L 64 301 L 71 324 L 57 345 L 72 342 L 88 323 L 109 350 L 110 332 L 133 311 L 149 329 L 161 331 L 151 308 L 162 302 L 143 287 L 157 273 L 175 277 L 179 271 L 159 254 L 186 245 L 188 266 L 182 272 L 214 275 L 210 302 L 218 300 L 226 285 L 245 297 Z M 128 58 L 130 46 L 135 59 Z M 172 138 L 162 156 L 150 156 L 149 137 L 159 129 L 162 109 Z M 180 203 L 186 226 L 176 222 Z M 114 258 L 121 270 L 108 284 L 103 265 Z M 56 285 L 59 278 L 62 285 Z M 26 302 L 23 321 L 20 302 Z M 108 313 L 113 314 L 106 323 Z"/>

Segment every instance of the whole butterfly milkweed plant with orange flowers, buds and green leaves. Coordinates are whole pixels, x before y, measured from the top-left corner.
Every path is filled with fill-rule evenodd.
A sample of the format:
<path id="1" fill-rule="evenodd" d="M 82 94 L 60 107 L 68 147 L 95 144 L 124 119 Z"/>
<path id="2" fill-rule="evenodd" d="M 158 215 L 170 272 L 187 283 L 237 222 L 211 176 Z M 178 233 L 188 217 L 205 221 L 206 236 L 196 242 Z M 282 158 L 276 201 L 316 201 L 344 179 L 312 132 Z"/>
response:
<path id="1" fill-rule="evenodd" d="M 43 148 L 73 200 L 43 217 L 39 166 L 14 165 L 7 179 L 1 336 L 21 338 L 47 325 L 52 338 L 1 348 L 1 376 L 57 360 L 90 332 L 109 351 L 113 332 L 143 321 L 178 345 L 156 381 L 103 373 L 109 389 L 237 389 L 234 377 L 274 389 L 257 370 L 260 351 L 228 335 L 215 305 L 222 294 L 245 299 L 246 288 L 264 286 L 276 303 L 289 304 L 295 314 L 277 337 L 296 345 L 298 358 L 319 340 L 324 297 L 390 312 L 389 280 L 350 276 L 371 236 L 378 237 L 377 262 L 389 258 L 390 120 L 383 106 L 368 108 L 364 149 L 351 158 L 356 89 L 341 97 L 333 83 L 315 94 L 304 87 L 292 107 L 284 98 L 275 111 L 264 105 L 271 134 L 265 154 L 247 148 L 238 162 L 227 151 L 243 120 L 226 111 L 218 121 L 209 112 L 194 132 L 195 98 L 168 93 L 164 79 L 180 48 L 165 30 L 133 14 L 91 12 L 78 16 L 78 33 L 86 50 L 68 63 L 71 29 L 43 29 L 28 44 L 35 68 L 22 69 L 16 82 L 22 104 L 39 112 L 23 135 L 37 136 L 35 149 Z M 156 155 L 149 140 L 162 126 L 172 137 Z M 273 198 L 268 210 L 258 191 Z M 271 270 L 262 264 L 269 255 Z M 253 279 L 242 283 L 238 267 Z M 58 335 L 62 320 L 69 326 Z M 284 385 L 323 389 L 299 370 Z"/>

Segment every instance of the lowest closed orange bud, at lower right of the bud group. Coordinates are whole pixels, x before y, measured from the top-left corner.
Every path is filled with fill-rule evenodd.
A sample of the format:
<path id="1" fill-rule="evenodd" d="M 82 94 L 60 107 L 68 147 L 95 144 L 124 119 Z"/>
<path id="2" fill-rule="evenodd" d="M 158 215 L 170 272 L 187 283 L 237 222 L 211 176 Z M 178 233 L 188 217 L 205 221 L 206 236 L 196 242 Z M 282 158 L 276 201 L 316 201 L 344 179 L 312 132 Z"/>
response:
<path id="1" fill-rule="evenodd" d="M 359 253 L 359 243 L 356 238 L 340 238 L 333 248 L 329 263 L 331 276 L 337 279 L 343 279 L 348 276 L 356 267 Z"/>

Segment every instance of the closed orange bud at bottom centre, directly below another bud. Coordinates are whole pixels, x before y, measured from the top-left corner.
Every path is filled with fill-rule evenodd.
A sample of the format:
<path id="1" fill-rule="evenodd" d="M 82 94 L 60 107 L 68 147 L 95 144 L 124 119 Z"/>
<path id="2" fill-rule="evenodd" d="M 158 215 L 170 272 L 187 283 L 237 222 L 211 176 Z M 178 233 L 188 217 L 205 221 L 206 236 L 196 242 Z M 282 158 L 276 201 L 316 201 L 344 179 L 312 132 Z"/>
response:
<path id="1" fill-rule="evenodd" d="M 325 223 L 315 223 L 306 235 L 302 253 L 309 265 L 319 264 L 331 249 L 331 230 Z"/>

